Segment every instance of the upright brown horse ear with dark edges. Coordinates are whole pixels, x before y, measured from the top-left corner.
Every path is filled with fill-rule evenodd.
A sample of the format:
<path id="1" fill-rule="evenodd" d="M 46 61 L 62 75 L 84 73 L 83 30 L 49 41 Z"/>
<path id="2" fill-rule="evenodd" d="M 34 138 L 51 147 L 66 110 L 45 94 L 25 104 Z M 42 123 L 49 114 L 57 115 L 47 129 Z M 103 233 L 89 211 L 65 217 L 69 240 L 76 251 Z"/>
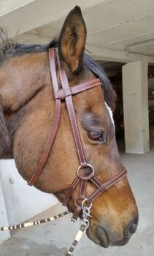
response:
<path id="1" fill-rule="evenodd" d="M 72 72 L 82 67 L 86 34 L 82 12 L 80 7 L 76 6 L 67 15 L 58 39 L 59 56 Z"/>

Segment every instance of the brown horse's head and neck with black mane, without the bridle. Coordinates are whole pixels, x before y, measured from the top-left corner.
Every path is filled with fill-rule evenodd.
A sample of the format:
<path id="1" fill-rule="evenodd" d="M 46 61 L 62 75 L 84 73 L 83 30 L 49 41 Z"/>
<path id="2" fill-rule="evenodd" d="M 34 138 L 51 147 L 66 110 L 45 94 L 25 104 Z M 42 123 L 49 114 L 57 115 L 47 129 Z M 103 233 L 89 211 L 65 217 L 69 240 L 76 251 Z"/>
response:
<path id="1" fill-rule="evenodd" d="M 104 71 L 85 53 L 86 27 L 79 7 L 75 7 L 50 45 L 19 45 L 5 38 L 0 45 L 0 158 L 15 159 L 18 171 L 29 181 L 44 151 L 52 127 L 55 102 L 47 51 L 58 46 L 70 86 L 99 78 L 101 87 L 74 96 L 74 106 L 85 157 L 95 167 L 96 176 L 108 181 L 123 164 L 115 141 L 112 111 L 115 92 Z M 57 74 L 58 75 L 58 74 Z M 35 187 L 53 193 L 60 201 L 76 176 L 79 165 L 66 104 L 62 102 L 58 134 Z M 74 211 L 74 198 L 69 209 Z M 87 193 L 93 191 L 88 184 Z M 138 211 L 127 178 L 101 194 L 91 209 L 87 234 L 107 247 L 126 244 L 135 232 Z"/>

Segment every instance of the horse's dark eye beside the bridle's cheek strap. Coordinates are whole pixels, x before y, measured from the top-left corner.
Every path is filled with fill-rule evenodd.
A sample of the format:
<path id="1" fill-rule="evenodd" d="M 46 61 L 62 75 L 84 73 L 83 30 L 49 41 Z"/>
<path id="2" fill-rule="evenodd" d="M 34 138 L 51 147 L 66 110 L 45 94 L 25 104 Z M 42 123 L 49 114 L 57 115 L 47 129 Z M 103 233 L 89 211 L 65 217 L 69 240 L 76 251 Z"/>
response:
<path id="1" fill-rule="evenodd" d="M 88 131 L 88 138 L 94 141 L 100 141 L 102 143 L 107 142 L 107 133 L 101 129 L 91 129 Z"/>

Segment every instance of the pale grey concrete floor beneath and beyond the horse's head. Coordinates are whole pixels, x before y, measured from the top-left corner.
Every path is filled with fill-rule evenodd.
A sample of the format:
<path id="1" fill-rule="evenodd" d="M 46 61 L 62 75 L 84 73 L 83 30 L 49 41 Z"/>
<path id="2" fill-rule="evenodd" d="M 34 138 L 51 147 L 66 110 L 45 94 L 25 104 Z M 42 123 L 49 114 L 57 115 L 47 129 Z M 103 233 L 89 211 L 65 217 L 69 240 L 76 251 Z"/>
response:
<path id="1" fill-rule="evenodd" d="M 150 152 L 145 155 L 124 154 L 122 151 L 121 156 L 128 169 L 128 179 L 139 207 L 138 230 L 127 245 L 109 249 L 96 246 L 84 236 L 74 256 L 154 255 L 154 140 Z M 61 208 L 59 205 L 50 208 L 43 217 L 58 214 Z M 72 244 L 78 227 L 67 216 L 45 225 L 18 230 L 12 238 L 0 245 L 0 256 L 63 256 L 66 248 Z"/>

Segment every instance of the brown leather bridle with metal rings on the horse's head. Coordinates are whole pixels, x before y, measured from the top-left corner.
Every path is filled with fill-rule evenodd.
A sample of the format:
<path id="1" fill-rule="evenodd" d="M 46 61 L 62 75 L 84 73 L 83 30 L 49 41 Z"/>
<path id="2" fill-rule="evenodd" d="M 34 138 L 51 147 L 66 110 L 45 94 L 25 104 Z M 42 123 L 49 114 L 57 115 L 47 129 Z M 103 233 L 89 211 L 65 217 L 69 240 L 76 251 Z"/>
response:
<path id="1" fill-rule="evenodd" d="M 59 89 L 58 86 L 58 78 L 56 75 L 56 68 L 55 68 L 55 60 L 58 64 L 58 72 L 60 75 L 61 80 L 61 89 Z M 85 206 L 88 206 L 88 208 L 91 208 L 93 200 L 96 199 L 96 197 L 99 197 L 101 193 L 105 192 L 109 187 L 112 187 L 114 184 L 116 184 L 120 179 L 124 178 L 127 174 L 127 170 L 123 169 L 109 179 L 109 181 L 105 182 L 104 184 L 99 181 L 99 178 L 96 178 L 95 176 L 95 170 L 93 168 L 93 165 L 88 163 L 85 159 L 85 153 L 82 146 L 82 140 L 80 137 L 80 130 L 77 125 L 77 119 L 74 111 L 74 104 L 72 96 L 74 94 L 79 94 L 82 91 L 93 89 L 96 86 L 101 86 L 101 80 L 99 79 L 93 79 L 89 80 L 88 82 L 81 83 L 77 86 L 70 87 L 69 81 L 66 76 L 66 72 L 63 68 L 62 63 L 59 61 L 58 58 L 58 49 L 57 48 L 50 48 L 49 49 L 49 61 L 50 61 L 50 72 L 51 72 L 51 78 L 53 80 L 53 92 L 54 92 L 54 98 L 55 98 L 55 119 L 53 122 L 53 127 L 50 132 L 50 136 L 47 140 L 47 144 L 45 146 L 45 150 L 42 154 L 41 160 L 39 162 L 39 165 L 36 167 L 36 170 L 34 171 L 33 176 L 31 177 L 31 180 L 28 182 L 28 185 L 34 185 L 37 179 L 39 178 L 40 174 L 42 173 L 43 167 L 45 166 L 45 163 L 47 162 L 47 157 L 50 154 L 50 150 L 53 146 L 53 141 L 55 140 L 56 132 L 58 131 L 58 124 L 60 120 L 60 114 L 61 114 L 61 101 L 65 100 L 66 107 L 69 113 L 69 120 L 72 126 L 72 132 L 74 136 L 74 143 L 77 148 L 77 154 L 80 161 L 80 167 L 77 169 L 77 176 L 74 178 L 74 181 L 72 182 L 71 187 L 69 188 L 66 197 L 64 197 L 63 200 L 63 206 L 67 206 L 69 203 L 69 199 L 72 196 L 72 193 L 77 187 L 77 184 L 80 182 L 80 192 L 78 197 L 75 200 L 75 204 L 77 208 L 75 209 L 73 213 L 72 220 L 75 221 L 79 216 L 80 212 L 82 211 Z M 88 176 L 82 175 L 80 170 L 88 168 L 90 169 L 90 174 Z M 90 181 L 94 184 L 96 189 L 89 195 L 88 197 L 85 197 L 86 187 L 87 183 Z M 79 203 L 80 202 L 80 203 Z"/>

